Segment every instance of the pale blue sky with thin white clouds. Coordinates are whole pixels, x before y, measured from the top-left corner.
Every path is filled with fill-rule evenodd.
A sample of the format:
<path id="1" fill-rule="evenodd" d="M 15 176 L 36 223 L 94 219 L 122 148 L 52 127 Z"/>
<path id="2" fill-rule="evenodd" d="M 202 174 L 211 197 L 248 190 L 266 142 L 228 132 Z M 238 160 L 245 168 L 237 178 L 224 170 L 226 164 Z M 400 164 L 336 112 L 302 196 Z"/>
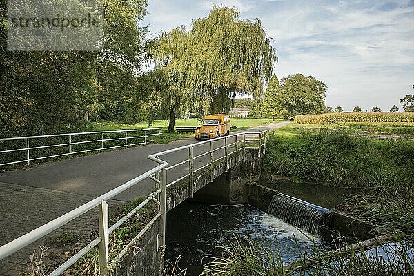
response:
<path id="1" fill-rule="evenodd" d="M 277 50 L 277 77 L 302 73 L 324 81 L 326 106 L 385 112 L 414 94 L 414 0 L 148 0 L 141 25 L 148 38 L 177 26 L 190 30 L 215 4 L 260 19 Z"/>

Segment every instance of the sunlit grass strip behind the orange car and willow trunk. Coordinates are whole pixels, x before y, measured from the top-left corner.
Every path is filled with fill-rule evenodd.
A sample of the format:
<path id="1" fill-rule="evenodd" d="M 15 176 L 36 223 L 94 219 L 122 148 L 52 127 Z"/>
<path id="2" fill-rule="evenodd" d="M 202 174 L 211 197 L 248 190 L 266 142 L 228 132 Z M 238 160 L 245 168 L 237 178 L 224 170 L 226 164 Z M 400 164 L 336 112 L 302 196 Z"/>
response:
<path id="1" fill-rule="evenodd" d="M 275 121 L 276 123 L 277 121 Z M 266 124 L 271 124 L 272 119 L 270 118 L 231 118 L 231 126 L 235 126 L 240 129 L 244 128 L 252 128 L 254 126 L 262 126 Z M 176 119 L 175 126 L 199 126 L 201 122 L 198 119 Z M 167 120 L 156 120 L 154 124 L 151 126 L 152 128 L 168 128 L 168 121 Z M 112 122 L 98 122 L 90 124 L 90 130 L 92 131 L 103 131 L 103 130 L 120 130 L 120 129 L 141 129 L 141 128 L 148 128 L 146 122 L 142 122 L 135 125 L 129 124 L 118 124 Z"/>

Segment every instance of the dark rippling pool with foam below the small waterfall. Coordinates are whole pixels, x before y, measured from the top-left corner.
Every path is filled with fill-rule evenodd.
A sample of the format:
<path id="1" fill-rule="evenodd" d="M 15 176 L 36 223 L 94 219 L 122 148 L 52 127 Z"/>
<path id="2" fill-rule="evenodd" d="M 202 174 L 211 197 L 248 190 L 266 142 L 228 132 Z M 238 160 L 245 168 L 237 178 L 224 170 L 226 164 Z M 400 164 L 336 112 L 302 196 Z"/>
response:
<path id="1" fill-rule="evenodd" d="M 285 264 L 299 257 L 295 238 L 302 253 L 311 252 L 313 242 L 309 238 L 315 239 L 247 204 L 224 206 L 186 201 L 168 212 L 166 230 L 166 260 L 175 262 L 181 255 L 179 267 L 188 268 L 190 276 L 201 273 L 201 265 L 209 261 L 204 256 L 219 257 L 221 252 L 215 246 L 232 239 L 233 233 L 279 250 Z M 317 239 L 315 243 L 320 244 Z"/>

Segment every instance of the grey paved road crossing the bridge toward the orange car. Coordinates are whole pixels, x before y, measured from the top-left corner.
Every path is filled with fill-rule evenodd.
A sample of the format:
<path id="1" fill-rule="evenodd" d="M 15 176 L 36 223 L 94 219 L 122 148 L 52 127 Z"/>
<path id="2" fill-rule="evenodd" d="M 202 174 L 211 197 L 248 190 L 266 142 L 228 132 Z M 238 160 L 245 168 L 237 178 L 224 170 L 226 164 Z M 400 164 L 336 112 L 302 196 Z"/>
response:
<path id="1" fill-rule="evenodd" d="M 279 128 L 288 123 L 280 122 L 243 132 Z M 195 142 L 195 139 L 183 139 L 169 144 L 150 144 L 3 172 L 0 175 L 0 246 L 150 170 L 154 164 L 147 159 L 148 155 Z M 183 159 L 187 154 L 177 152 L 175 159 Z M 142 181 L 114 197 L 109 205 L 117 206 L 148 195 L 152 188 L 152 181 Z M 88 223 L 91 219 L 94 221 L 92 225 Z M 91 232 L 96 230 L 95 221 L 96 212 L 87 213 L 60 230 L 67 233 L 83 228 L 85 233 Z M 28 250 L 32 252 L 32 248 Z M 20 266 L 26 263 L 27 253 L 16 253 L 0 261 L 0 275 L 14 275 L 21 271 Z M 14 267 L 10 268 L 10 264 Z"/>

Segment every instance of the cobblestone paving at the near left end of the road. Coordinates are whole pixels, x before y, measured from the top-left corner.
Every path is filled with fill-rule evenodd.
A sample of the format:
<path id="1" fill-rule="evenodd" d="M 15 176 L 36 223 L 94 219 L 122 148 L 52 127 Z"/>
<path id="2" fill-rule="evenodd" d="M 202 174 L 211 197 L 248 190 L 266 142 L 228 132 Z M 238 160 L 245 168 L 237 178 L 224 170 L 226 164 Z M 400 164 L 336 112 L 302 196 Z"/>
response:
<path id="1" fill-rule="evenodd" d="M 0 245 L 6 244 L 93 199 L 93 197 L 86 195 L 1 182 L 0 190 L 0 221 L 2 228 Z M 123 201 L 108 201 L 111 209 L 122 203 Z M 35 242 L 3 259 L 0 261 L 0 275 L 19 275 L 23 270 L 30 267 L 30 255 L 34 250 L 39 252 L 39 246 L 41 245 L 52 246 L 50 244 L 53 244 L 53 241 L 63 233 L 72 233 L 77 237 L 88 238 L 91 233 L 97 231 L 97 214 L 97 208 L 95 208 L 50 233 L 39 242 Z M 53 254 L 61 254 L 61 257 L 64 258 L 63 250 L 60 253 L 55 249 L 52 251 Z M 47 250 L 46 253 L 48 253 Z"/>

